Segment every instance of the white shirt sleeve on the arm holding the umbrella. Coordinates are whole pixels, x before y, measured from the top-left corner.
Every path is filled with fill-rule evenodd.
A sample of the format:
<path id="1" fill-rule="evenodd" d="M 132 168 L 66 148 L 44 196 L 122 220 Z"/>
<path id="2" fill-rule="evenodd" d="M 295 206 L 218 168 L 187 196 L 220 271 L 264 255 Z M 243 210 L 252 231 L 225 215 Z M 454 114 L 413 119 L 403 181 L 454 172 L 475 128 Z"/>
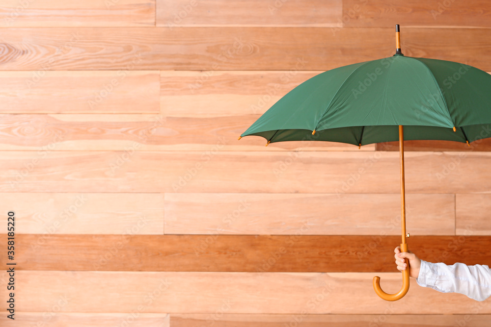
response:
<path id="1" fill-rule="evenodd" d="M 431 263 L 421 260 L 416 282 L 443 293 L 460 293 L 467 297 L 484 301 L 491 296 L 491 270 L 488 266 L 467 266 L 456 263 Z"/>

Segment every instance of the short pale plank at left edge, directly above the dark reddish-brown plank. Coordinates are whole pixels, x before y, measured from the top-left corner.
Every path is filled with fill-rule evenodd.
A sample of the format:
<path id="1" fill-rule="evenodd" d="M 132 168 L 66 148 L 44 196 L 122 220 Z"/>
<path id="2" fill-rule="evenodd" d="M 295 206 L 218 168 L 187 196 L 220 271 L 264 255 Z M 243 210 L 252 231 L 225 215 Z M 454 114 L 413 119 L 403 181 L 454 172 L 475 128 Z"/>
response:
<path id="1" fill-rule="evenodd" d="M 26 203 L 29 205 L 26 206 Z M 163 234 L 164 196 L 135 193 L 6 193 L 0 206 L 22 223 L 18 234 Z M 7 216 L 1 222 L 7 226 Z"/>

